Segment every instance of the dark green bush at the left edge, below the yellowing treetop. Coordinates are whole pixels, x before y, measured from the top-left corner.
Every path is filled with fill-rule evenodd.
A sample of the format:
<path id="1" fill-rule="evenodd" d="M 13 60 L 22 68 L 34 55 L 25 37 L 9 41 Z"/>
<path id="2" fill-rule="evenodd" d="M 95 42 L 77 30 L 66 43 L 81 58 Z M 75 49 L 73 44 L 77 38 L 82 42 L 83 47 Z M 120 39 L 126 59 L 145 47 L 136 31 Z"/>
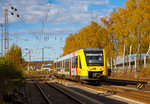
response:
<path id="1" fill-rule="evenodd" d="M 10 60 L 0 58 L 0 79 L 0 92 L 4 93 L 18 87 L 23 77 Z"/>

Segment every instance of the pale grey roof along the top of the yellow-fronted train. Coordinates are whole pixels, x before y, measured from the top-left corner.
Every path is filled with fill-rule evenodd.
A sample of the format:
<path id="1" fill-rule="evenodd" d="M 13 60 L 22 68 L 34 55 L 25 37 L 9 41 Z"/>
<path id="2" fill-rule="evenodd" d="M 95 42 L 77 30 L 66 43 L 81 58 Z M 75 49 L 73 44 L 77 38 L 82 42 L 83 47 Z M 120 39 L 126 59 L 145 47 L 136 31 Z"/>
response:
<path id="1" fill-rule="evenodd" d="M 81 49 L 78 49 L 78 50 L 76 50 L 74 52 L 77 52 L 77 51 L 82 50 L 82 49 L 83 49 L 83 51 L 102 51 L 103 50 L 103 49 L 100 49 L 100 48 L 81 48 Z M 73 57 L 73 53 L 74 52 L 69 53 L 69 54 L 67 54 L 65 56 L 62 56 L 62 57 L 56 59 L 54 62 L 59 62 L 59 61 L 62 61 L 64 59 L 68 59 L 70 57 Z"/>

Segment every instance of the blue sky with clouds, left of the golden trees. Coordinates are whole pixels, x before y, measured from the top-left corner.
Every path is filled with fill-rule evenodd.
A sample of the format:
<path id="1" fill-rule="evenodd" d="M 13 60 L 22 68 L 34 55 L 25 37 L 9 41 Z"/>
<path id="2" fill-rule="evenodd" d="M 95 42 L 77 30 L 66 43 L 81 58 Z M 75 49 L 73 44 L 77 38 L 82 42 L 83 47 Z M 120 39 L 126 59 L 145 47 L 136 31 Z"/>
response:
<path id="1" fill-rule="evenodd" d="M 10 46 L 13 43 L 19 45 L 27 61 L 28 50 L 25 48 L 31 50 L 31 61 L 42 60 L 42 48 L 44 59 L 54 60 L 63 53 L 69 34 L 78 32 L 92 20 L 99 21 L 100 17 L 108 16 L 114 8 L 124 7 L 126 1 L 0 0 L 0 24 L 4 24 L 4 10 L 7 8 Z M 11 6 L 17 11 L 13 11 Z"/>

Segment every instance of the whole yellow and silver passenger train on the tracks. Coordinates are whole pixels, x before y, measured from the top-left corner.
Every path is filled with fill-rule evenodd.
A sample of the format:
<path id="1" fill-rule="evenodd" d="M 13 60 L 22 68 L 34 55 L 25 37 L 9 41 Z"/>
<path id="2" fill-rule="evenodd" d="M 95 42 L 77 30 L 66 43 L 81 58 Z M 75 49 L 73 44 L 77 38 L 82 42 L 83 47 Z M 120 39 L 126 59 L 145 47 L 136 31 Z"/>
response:
<path id="1" fill-rule="evenodd" d="M 83 48 L 54 61 L 55 76 L 75 81 L 105 80 L 108 76 L 105 51 Z"/>

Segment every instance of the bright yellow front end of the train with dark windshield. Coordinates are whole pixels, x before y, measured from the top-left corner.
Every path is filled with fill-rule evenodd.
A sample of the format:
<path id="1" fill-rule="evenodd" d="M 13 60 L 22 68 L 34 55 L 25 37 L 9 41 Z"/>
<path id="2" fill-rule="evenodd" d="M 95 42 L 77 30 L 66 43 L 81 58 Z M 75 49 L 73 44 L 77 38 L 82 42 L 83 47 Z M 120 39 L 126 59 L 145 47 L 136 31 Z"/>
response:
<path id="1" fill-rule="evenodd" d="M 83 49 L 81 54 L 81 79 L 88 81 L 106 80 L 108 70 L 106 66 L 105 51 L 98 48 Z"/>

